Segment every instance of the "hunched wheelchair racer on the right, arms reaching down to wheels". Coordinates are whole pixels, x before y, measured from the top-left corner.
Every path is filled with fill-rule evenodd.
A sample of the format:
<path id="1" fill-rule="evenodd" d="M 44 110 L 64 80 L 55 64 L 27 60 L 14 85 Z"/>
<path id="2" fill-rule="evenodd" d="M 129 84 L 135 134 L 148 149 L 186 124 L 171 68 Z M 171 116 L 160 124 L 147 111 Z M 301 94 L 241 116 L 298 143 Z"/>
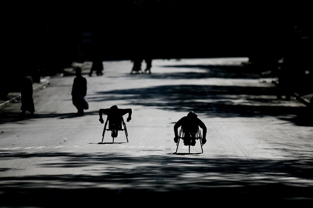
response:
<path id="1" fill-rule="evenodd" d="M 177 143 L 178 141 L 178 128 L 182 126 L 182 132 L 185 134 L 185 137 L 182 138 L 184 140 L 184 145 L 188 146 L 195 146 L 196 139 L 195 135 L 198 132 L 199 126 L 202 128 L 202 144 L 205 144 L 207 142 L 206 140 L 206 134 L 207 134 L 207 127 L 204 125 L 204 123 L 198 118 L 198 115 L 190 111 L 187 116 L 182 117 L 177 121 L 174 125 L 174 134 L 175 138 L 174 141 Z"/>

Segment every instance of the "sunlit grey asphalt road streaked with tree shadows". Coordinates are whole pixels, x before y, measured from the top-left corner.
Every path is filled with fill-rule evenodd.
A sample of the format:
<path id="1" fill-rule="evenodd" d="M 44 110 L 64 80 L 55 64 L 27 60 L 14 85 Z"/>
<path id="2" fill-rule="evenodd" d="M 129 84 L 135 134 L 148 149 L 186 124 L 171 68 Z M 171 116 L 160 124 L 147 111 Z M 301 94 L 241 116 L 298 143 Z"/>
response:
<path id="1" fill-rule="evenodd" d="M 103 62 L 104 75 L 92 77 L 91 63 L 74 63 L 87 79 L 89 109 L 82 117 L 71 99 L 73 69 L 45 77 L 49 85 L 33 94 L 34 117 L 19 119 L 20 101 L 1 110 L 0 206 L 312 202 L 307 107 L 277 100 L 276 77 L 262 76 L 247 61 L 160 59 L 151 74 L 130 74 L 131 61 L 112 61 Z M 114 143 L 110 132 L 101 142 L 98 111 L 112 105 L 132 109 L 128 142 L 124 131 Z M 203 152 L 199 140 L 190 150 L 174 143 L 173 126 L 189 111 L 207 126 Z"/>

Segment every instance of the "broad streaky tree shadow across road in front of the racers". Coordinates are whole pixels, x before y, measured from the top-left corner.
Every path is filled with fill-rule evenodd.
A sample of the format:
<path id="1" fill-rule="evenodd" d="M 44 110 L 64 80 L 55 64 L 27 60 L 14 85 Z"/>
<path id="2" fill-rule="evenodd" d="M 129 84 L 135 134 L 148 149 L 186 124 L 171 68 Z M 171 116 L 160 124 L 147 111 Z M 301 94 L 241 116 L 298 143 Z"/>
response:
<path id="1" fill-rule="evenodd" d="M 308 153 L 312 152 L 303 151 L 292 158 L 275 160 L 223 155 L 199 157 L 198 154 L 2 152 L 2 161 L 40 158 L 37 168 L 51 171 L 49 175 L 25 172 L 25 175 L 5 176 L 6 171 L 14 168 L 1 168 L 1 204 L 52 207 L 62 201 L 76 205 L 81 203 L 77 199 L 98 199 L 99 195 L 110 200 L 123 199 L 125 204 L 135 198 L 161 198 L 176 205 L 186 203 L 175 201 L 177 197 L 200 197 L 210 203 L 223 201 L 228 205 L 233 204 L 233 200 L 247 199 L 258 204 L 307 203 L 313 200 L 313 163 Z M 73 174 L 75 172 L 79 174 Z M 187 200 L 189 202 L 194 200 Z"/>

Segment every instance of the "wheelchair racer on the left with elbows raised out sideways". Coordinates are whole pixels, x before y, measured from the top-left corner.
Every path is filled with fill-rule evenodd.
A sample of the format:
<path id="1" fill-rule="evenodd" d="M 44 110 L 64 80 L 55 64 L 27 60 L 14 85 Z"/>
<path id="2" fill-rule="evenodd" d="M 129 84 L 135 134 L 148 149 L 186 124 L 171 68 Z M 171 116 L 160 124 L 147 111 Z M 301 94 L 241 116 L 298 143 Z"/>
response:
<path id="1" fill-rule="evenodd" d="M 112 137 L 117 137 L 117 132 L 122 130 L 122 118 L 125 114 L 128 113 L 127 122 L 131 120 L 131 108 L 118 108 L 117 106 L 111 106 L 110 108 L 99 109 L 99 121 L 104 123 L 102 114 L 108 116 L 109 120 L 109 129 L 112 129 Z"/>

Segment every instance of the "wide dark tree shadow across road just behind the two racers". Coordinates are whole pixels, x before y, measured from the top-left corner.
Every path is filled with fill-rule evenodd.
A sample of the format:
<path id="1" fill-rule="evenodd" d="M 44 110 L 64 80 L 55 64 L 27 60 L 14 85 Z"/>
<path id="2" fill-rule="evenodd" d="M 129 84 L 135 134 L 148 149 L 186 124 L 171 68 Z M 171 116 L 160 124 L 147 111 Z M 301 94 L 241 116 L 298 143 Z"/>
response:
<path id="1" fill-rule="evenodd" d="M 149 106 L 168 111 L 197 111 L 209 117 L 277 118 L 310 126 L 307 107 L 299 101 L 277 100 L 274 87 L 233 87 L 214 85 L 163 85 L 102 91 L 89 102 L 127 101 L 124 105 Z M 301 122 L 295 117 L 302 116 Z M 299 117 L 300 118 L 300 117 Z"/>

